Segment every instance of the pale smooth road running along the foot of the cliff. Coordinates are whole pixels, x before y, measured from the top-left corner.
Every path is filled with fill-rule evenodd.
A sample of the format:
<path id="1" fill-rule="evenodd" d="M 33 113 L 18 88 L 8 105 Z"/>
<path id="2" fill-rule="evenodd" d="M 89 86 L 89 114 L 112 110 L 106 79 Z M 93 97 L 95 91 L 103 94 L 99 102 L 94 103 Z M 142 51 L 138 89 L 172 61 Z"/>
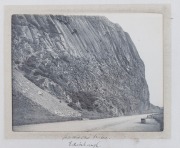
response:
<path id="1" fill-rule="evenodd" d="M 14 131 L 122 131 L 122 132 L 153 132 L 160 131 L 160 124 L 154 119 L 141 123 L 144 115 L 123 116 L 116 118 L 81 120 L 56 123 L 42 123 L 14 126 Z"/>

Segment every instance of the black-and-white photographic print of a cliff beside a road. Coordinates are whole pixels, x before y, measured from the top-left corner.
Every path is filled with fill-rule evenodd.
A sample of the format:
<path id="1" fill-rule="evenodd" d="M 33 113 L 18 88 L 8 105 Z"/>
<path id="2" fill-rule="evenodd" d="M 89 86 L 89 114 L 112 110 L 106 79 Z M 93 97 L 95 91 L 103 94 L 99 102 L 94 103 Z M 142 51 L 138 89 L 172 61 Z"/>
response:
<path id="1" fill-rule="evenodd" d="M 163 15 L 12 14 L 14 132 L 162 132 Z"/>

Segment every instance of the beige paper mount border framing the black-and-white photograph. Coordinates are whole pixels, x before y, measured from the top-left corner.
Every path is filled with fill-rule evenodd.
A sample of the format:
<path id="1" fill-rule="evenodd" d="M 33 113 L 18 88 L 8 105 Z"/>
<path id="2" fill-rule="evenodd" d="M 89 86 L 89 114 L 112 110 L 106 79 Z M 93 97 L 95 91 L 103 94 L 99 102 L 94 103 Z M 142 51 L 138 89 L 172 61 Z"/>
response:
<path id="1" fill-rule="evenodd" d="M 73 14 L 73 13 L 157 13 L 163 15 L 163 99 L 164 130 L 162 132 L 71 132 L 71 136 L 101 134 L 111 139 L 170 138 L 171 133 L 171 6 L 155 5 L 26 5 L 5 6 L 4 17 L 4 95 L 5 137 L 12 139 L 62 138 L 69 132 L 14 132 L 12 130 L 12 63 L 11 63 L 11 16 L 12 14 Z"/>

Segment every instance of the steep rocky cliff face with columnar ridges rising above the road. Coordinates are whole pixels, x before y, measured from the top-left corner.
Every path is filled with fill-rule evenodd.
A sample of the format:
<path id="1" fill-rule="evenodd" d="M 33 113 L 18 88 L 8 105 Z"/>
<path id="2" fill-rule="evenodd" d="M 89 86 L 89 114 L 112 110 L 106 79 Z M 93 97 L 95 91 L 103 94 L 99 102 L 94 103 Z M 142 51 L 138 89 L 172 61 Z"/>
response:
<path id="1" fill-rule="evenodd" d="M 13 66 L 75 110 L 111 116 L 150 107 L 143 61 L 102 16 L 12 16 Z"/>

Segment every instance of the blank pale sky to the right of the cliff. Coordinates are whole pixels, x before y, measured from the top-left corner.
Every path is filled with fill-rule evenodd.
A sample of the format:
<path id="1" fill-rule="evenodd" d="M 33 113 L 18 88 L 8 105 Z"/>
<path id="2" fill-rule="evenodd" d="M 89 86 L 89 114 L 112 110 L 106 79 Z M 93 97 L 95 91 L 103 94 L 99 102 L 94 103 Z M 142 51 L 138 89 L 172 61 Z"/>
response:
<path id="1" fill-rule="evenodd" d="M 145 64 L 150 102 L 163 107 L 163 17 L 152 13 L 104 14 L 128 32 Z"/>

